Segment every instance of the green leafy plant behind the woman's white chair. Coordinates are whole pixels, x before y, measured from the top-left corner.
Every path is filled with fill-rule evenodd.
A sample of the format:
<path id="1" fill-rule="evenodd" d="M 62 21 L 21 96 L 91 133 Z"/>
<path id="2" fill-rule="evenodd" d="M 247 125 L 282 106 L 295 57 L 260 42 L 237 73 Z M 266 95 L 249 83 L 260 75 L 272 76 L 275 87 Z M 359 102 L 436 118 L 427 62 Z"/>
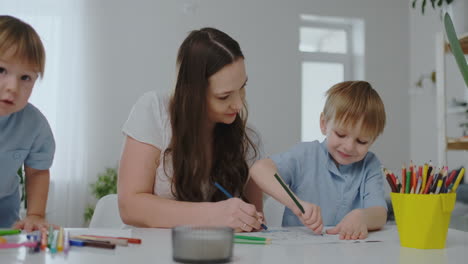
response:
<path id="1" fill-rule="evenodd" d="M 117 169 L 106 168 L 105 172 L 98 174 L 98 179 L 95 183 L 90 184 L 90 188 L 97 200 L 108 194 L 117 193 Z M 85 209 L 84 218 L 86 222 L 89 222 L 93 217 L 95 206 L 88 205 Z"/>

